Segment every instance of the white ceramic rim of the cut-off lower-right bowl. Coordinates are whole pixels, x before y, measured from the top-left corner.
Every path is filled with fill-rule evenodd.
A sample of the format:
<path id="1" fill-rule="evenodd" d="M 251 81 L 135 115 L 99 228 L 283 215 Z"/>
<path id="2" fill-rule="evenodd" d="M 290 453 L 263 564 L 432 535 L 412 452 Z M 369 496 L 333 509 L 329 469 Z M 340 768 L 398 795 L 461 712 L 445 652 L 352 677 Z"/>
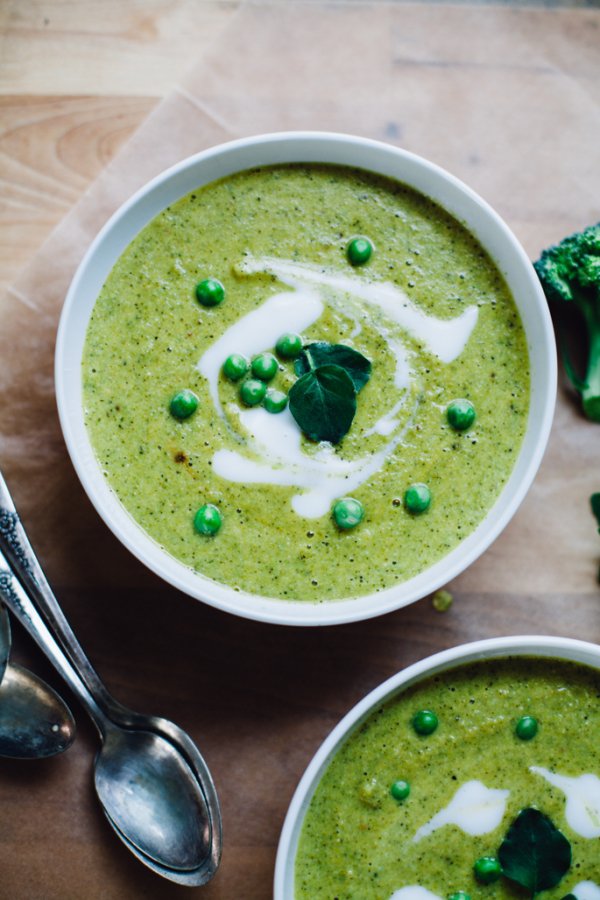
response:
<path id="1" fill-rule="evenodd" d="M 507 656 L 537 656 L 571 660 L 600 670 L 600 647 L 570 638 L 503 637 L 462 644 L 409 666 L 376 687 L 336 725 L 306 769 L 290 803 L 277 850 L 274 900 L 294 900 L 294 867 L 298 840 L 312 796 L 327 766 L 342 744 L 371 713 L 411 685 L 465 663 Z"/>

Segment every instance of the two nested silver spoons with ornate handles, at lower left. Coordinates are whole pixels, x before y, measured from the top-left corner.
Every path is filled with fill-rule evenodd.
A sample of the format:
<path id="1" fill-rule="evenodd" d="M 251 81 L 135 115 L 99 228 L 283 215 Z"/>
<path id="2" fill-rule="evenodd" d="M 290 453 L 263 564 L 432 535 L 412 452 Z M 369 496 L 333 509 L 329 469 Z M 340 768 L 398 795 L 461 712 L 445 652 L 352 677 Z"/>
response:
<path id="1" fill-rule="evenodd" d="M 210 772 L 180 728 L 132 712 L 108 693 L 46 581 L 1 475 L 0 548 L 8 560 L 0 554 L 0 596 L 100 734 L 95 786 L 108 821 L 158 874 L 182 884 L 204 884 L 221 856 L 221 816 Z"/>

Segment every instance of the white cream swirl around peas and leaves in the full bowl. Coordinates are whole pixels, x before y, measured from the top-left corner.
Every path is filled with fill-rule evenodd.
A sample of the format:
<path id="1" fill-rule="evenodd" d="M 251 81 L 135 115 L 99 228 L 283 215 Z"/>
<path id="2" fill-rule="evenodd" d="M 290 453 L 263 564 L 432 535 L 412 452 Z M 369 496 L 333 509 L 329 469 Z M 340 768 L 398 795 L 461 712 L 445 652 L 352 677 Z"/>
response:
<path id="1" fill-rule="evenodd" d="M 321 316 L 325 302 L 349 315 L 356 323 L 355 332 L 360 330 L 364 304 L 370 305 L 377 312 L 372 324 L 396 360 L 394 384 L 398 396 L 391 408 L 366 431 L 366 436 L 379 434 L 389 440 L 378 452 L 360 459 L 344 460 L 326 443 L 316 453 L 306 453 L 302 449 L 300 429 L 289 411 L 278 415 L 261 408 L 231 412 L 237 415 L 245 432 L 246 446 L 244 452 L 216 451 L 213 471 L 232 482 L 297 487 L 301 493 L 292 498 L 294 511 L 304 518 L 318 518 L 328 512 L 334 499 L 352 493 L 381 468 L 416 414 L 420 399 L 415 399 L 413 392 L 412 408 L 400 427 L 398 413 L 411 396 L 411 371 L 408 353 L 392 330 L 400 326 L 442 361 L 450 362 L 463 351 L 477 321 L 478 309 L 471 306 L 454 319 L 438 319 L 419 310 L 395 285 L 372 284 L 358 276 L 334 274 L 317 266 L 272 257 L 248 256 L 240 271 L 275 275 L 293 290 L 275 294 L 243 316 L 200 359 L 197 368 L 208 381 L 217 413 L 225 420 L 218 381 L 227 356 L 231 353 L 253 356 L 274 346 L 283 332 L 304 331 Z"/>

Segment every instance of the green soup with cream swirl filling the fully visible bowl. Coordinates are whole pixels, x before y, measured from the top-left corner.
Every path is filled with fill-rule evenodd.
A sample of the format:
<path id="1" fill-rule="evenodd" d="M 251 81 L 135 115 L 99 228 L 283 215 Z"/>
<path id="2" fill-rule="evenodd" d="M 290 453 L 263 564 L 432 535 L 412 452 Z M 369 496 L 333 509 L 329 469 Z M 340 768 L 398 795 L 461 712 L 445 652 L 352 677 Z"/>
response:
<path id="1" fill-rule="evenodd" d="M 366 265 L 347 258 L 357 235 L 376 248 Z M 225 301 L 199 303 L 204 283 Z M 358 389 L 340 366 L 311 372 L 318 390 L 344 382 L 340 404 L 309 408 L 343 411 L 335 444 L 281 400 L 311 344 L 371 364 Z M 246 371 L 258 357 L 268 385 Z M 365 172 L 279 166 L 201 188 L 135 238 L 91 317 L 84 404 L 112 488 L 169 553 L 233 587 L 328 600 L 416 575 L 481 522 L 523 437 L 528 366 L 506 284 L 456 220 Z M 179 419 L 182 386 L 199 402 Z M 477 410 L 464 430 L 448 421 L 457 398 Z M 433 498 L 424 515 L 393 503 L 411 485 Z M 347 496 L 365 511 L 352 530 L 332 516 Z M 209 541 L 193 527 L 207 503 L 223 518 Z"/>

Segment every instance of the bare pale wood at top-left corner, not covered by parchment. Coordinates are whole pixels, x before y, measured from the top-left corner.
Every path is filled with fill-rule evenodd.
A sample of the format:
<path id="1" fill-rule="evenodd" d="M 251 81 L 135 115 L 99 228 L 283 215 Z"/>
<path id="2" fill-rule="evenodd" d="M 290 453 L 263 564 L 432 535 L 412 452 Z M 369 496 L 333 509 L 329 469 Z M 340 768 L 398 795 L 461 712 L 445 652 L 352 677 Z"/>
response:
<path id="1" fill-rule="evenodd" d="M 0 297 L 238 5 L 0 5 Z"/>

